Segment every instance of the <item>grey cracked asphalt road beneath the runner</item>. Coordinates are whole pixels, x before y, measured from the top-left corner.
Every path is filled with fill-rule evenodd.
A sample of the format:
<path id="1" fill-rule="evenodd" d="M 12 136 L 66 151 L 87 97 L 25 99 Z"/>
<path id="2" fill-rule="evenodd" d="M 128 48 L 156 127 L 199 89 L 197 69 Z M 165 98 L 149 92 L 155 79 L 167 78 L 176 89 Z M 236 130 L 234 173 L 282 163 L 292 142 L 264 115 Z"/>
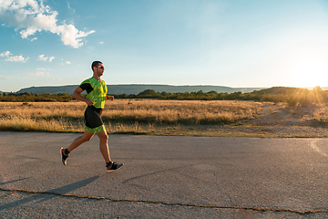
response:
<path id="1" fill-rule="evenodd" d="M 328 140 L 0 132 L 0 218 L 326 218 Z"/>

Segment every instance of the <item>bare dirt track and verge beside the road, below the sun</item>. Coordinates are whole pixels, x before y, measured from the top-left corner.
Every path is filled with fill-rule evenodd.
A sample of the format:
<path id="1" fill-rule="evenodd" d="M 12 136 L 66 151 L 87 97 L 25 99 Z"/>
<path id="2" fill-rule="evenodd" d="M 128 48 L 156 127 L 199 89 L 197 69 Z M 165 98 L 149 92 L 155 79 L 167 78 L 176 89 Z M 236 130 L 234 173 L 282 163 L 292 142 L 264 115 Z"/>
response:
<path id="1" fill-rule="evenodd" d="M 263 106 L 261 117 L 255 120 L 242 120 L 241 126 L 226 126 L 221 130 L 236 133 L 236 135 L 254 137 L 328 137 L 326 122 L 314 119 L 315 110 L 290 109 L 286 105 Z"/>

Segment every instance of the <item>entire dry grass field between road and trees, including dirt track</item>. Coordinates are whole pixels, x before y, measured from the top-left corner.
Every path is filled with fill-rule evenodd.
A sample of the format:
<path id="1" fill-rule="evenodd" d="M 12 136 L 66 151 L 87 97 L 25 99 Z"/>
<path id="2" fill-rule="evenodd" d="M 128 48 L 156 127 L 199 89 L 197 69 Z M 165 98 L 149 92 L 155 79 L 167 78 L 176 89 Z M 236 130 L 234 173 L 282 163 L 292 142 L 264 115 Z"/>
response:
<path id="1" fill-rule="evenodd" d="M 83 102 L 0 102 L 0 130 L 83 132 Z M 328 108 L 234 100 L 107 101 L 108 133 L 327 137 Z"/>

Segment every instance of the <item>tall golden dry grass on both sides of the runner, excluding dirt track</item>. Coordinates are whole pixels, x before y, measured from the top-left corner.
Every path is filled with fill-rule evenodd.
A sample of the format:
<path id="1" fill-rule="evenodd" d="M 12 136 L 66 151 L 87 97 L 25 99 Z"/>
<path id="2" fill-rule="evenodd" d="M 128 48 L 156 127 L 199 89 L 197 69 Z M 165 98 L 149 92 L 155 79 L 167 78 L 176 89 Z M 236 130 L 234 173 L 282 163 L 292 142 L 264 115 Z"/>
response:
<path id="1" fill-rule="evenodd" d="M 83 131 L 84 102 L 0 102 L 0 130 Z M 142 132 L 154 125 L 231 124 L 261 115 L 262 103 L 231 100 L 107 101 L 102 119 L 110 130 Z M 110 131 L 109 130 L 109 131 Z"/>

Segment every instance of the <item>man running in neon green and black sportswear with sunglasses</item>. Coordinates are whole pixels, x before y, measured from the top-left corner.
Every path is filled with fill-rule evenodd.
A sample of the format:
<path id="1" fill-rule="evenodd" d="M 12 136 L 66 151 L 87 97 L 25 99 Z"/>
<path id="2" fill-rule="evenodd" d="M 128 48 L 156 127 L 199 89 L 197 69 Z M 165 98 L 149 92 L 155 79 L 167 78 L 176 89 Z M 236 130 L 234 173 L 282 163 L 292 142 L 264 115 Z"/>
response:
<path id="1" fill-rule="evenodd" d="M 61 160 L 64 165 L 67 164 L 67 157 L 71 151 L 76 149 L 82 143 L 90 141 L 91 138 L 97 134 L 99 137 L 99 149 L 103 155 L 107 172 L 118 170 L 123 166 L 123 163 L 116 163 L 110 160 L 108 150 L 108 134 L 106 132 L 103 121 L 101 120 L 101 113 L 105 107 L 105 100 L 114 100 L 113 96 L 107 96 L 107 86 L 104 80 L 100 77 L 104 74 L 105 68 L 100 61 L 94 61 L 91 65 L 93 70 L 93 77 L 84 80 L 76 90 L 74 90 L 72 97 L 87 103 L 85 111 L 86 126 L 82 136 L 73 141 L 67 149 L 61 148 Z M 87 99 L 81 96 L 81 92 L 87 90 Z"/>

